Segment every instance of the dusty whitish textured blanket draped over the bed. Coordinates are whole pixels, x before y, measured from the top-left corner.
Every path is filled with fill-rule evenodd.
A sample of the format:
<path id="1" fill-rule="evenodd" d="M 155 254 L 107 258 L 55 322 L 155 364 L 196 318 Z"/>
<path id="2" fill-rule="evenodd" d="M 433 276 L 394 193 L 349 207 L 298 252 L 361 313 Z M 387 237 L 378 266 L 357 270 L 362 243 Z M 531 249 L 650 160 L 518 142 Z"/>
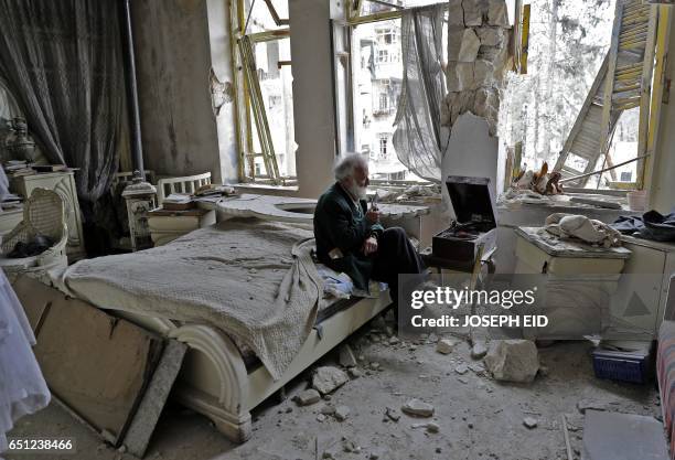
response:
<path id="1" fill-rule="evenodd" d="M 278 379 L 322 301 L 312 236 L 280 223 L 232 220 L 165 246 L 78 261 L 60 285 L 100 308 L 215 325 L 248 345 Z"/>

